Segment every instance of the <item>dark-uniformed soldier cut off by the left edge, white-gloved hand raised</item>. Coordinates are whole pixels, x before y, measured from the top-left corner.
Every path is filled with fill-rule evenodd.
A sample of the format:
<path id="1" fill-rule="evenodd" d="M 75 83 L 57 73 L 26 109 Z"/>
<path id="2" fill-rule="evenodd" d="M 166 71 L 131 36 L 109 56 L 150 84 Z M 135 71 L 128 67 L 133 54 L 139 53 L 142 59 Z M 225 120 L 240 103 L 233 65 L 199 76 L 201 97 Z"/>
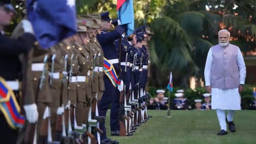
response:
<path id="1" fill-rule="evenodd" d="M 0 1 L 0 77 L 3 78 L 11 88 L 19 103 L 19 81 L 21 80 L 22 63 L 19 55 L 27 54 L 36 41 L 33 35 L 33 28 L 29 21 L 22 20 L 24 34 L 15 39 L 10 39 L 4 35 L 4 27 L 10 24 L 11 18 L 14 15 L 14 8 L 10 4 L 10 0 Z M 29 122 L 36 122 L 38 112 L 36 104 L 24 105 Z M 29 110 L 28 110 L 29 109 Z M 30 114 L 30 116 L 29 116 Z M 34 115 L 33 116 L 31 116 Z M 35 118 L 37 115 L 37 118 Z M 0 140 L 3 144 L 15 144 L 19 129 L 12 129 L 5 115 L 0 111 Z"/>

